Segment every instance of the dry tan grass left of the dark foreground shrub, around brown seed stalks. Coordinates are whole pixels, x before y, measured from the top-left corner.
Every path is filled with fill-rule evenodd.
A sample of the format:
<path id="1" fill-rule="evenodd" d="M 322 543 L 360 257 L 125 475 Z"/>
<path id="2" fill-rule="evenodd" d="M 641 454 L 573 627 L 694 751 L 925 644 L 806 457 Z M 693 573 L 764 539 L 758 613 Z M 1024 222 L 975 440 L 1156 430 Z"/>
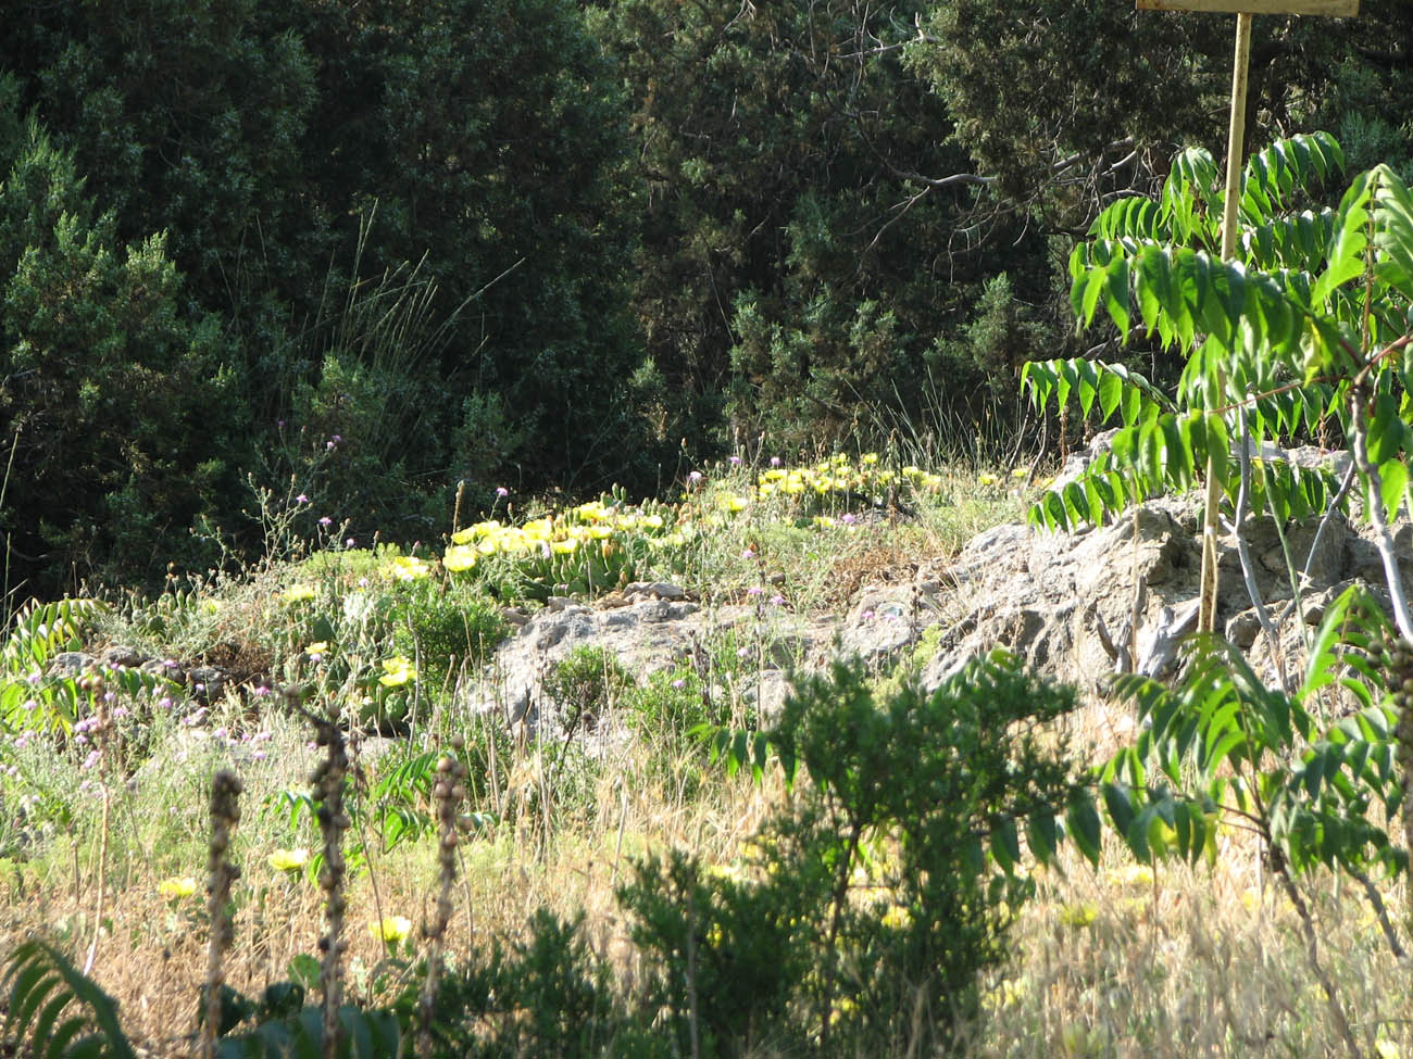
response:
<path id="1" fill-rule="evenodd" d="M 259 995 L 266 986 L 285 980 L 294 957 L 315 955 L 322 932 L 318 887 L 304 873 L 268 863 L 273 850 L 290 844 L 290 834 L 280 813 L 260 809 L 273 794 L 304 785 L 312 751 L 301 738 L 298 727 L 290 724 L 271 743 L 268 758 L 284 764 L 249 770 L 243 822 L 232 850 L 242 877 L 235 891 L 236 936 L 227 959 L 227 980 L 246 995 Z M 196 764 L 194 771 L 209 771 L 216 762 L 219 757 Z M 506 764 L 507 771 L 531 777 L 538 785 L 534 772 L 544 767 L 543 760 L 527 754 Z M 171 795 L 171 772 L 153 770 L 130 784 L 126 796 L 133 806 L 150 805 Z M 513 943 L 537 909 L 550 909 L 569 921 L 582 916 L 593 950 L 632 976 L 636 957 L 615 902 L 615 888 L 627 880 L 632 861 L 670 847 L 692 849 L 712 861 L 729 860 L 736 844 L 755 833 L 779 792 L 779 779 L 755 786 L 743 777 L 723 778 L 709 796 L 684 802 L 670 784 L 646 778 L 633 748 L 625 748 L 603 770 L 591 805 L 567 808 L 568 819 L 555 825 L 548 840 L 543 819 L 527 812 L 517 825 L 499 826 L 462 846 L 455 915 L 447 936 L 449 960 L 473 963 L 476 953 L 483 955 L 493 942 Z M 114 796 L 114 805 L 123 801 Z M 158 820 L 157 826 L 170 830 L 172 823 Z M 177 830 L 182 830 L 179 823 Z M 119 1001 L 124 1029 L 141 1052 L 189 1055 L 196 997 L 206 971 L 205 894 L 199 885 L 203 836 L 192 833 L 185 842 L 144 847 L 143 832 L 138 825 L 134 834 L 122 836 L 119 844 L 127 856 L 110 854 L 92 977 Z M 8 871 L 0 874 L 0 952 L 38 935 L 82 956 L 95 928 L 95 842 L 92 834 L 76 837 L 71 860 L 8 864 Z M 314 844 L 312 837 L 307 844 Z M 181 874 L 198 877 L 195 891 L 164 897 L 161 884 Z M 396 994 L 406 970 L 389 962 L 372 926 L 391 915 L 417 925 L 430 922 L 437 877 L 431 842 L 406 843 L 386 854 L 374 849 L 366 867 L 355 874 L 346 912 L 350 998 L 386 1003 Z"/>

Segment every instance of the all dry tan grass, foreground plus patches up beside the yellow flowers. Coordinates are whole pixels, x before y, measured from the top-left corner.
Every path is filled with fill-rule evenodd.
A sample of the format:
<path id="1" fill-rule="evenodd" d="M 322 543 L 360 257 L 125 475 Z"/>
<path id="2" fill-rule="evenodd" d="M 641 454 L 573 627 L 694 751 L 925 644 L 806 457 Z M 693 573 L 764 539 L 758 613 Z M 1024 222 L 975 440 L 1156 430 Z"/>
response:
<path id="1" fill-rule="evenodd" d="M 957 479 L 950 514 L 883 520 L 868 534 L 838 537 L 828 546 L 803 544 L 805 538 L 769 525 L 753 532 L 786 570 L 794 606 L 836 609 L 866 580 L 951 554 L 976 530 L 1016 514 L 1013 498 L 978 498 L 969 481 L 974 486 L 974 479 Z M 725 592 L 762 573 L 743 563 L 739 552 L 739 541 L 723 538 L 716 554 L 704 558 L 702 569 L 722 575 Z M 187 645 L 211 637 L 208 650 L 268 668 L 261 623 L 268 621 L 267 602 L 278 585 L 271 568 L 232 589 L 222 609 L 195 610 L 182 628 Z M 280 813 L 261 812 L 280 791 L 307 786 L 308 733 L 292 717 L 253 717 L 250 710 L 249 702 L 233 698 L 218 714 L 233 727 L 259 724 L 273 733 L 267 758 L 242 762 L 247 794 L 233 849 L 244 874 L 237 884 L 229 980 L 257 994 L 287 976 L 291 959 L 314 953 L 322 912 L 317 885 L 270 866 L 270 853 L 294 844 L 294 836 Z M 1133 736 L 1128 712 L 1108 703 L 1089 703 L 1063 726 L 1057 734 L 1089 747 L 1094 758 Z M 592 789 L 579 803 L 550 813 L 537 803 L 462 847 L 456 912 L 447 939 L 454 960 L 471 960 L 493 939 L 521 938 L 530 915 L 548 908 L 564 918 L 582 914 L 593 950 L 610 957 L 630 984 L 637 964 L 615 888 L 625 882 L 632 858 L 688 847 L 706 861 L 728 861 L 780 796 L 776 777 L 753 786 L 743 777 L 728 781 L 721 775 L 688 801 L 678 785 L 653 778 L 642 747 L 613 753 L 612 760 L 598 762 Z M 225 762 L 222 751 L 174 726 L 162 733 L 148 764 L 109 781 L 109 897 L 97 925 L 93 974 L 120 1001 L 124 1027 L 150 1055 L 189 1053 L 205 973 L 203 901 L 199 882 L 195 895 L 185 898 L 160 895 L 158 884 L 201 874 L 201 784 Z M 519 794 L 509 792 L 510 799 L 548 786 L 538 772 L 544 762 L 534 755 L 523 754 L 502 768 L 507 781 L 528 781 Z M 72 794 L 72 784 L 64 789 Z M 75 796 L 75 806 L 66 836 L 51 834 L 44 849 L 30 850 L 34 856 L 0 866 L 0 950 L 35 933 L 57 938 L 69 952 L 86 950 L 96 926 L 97 801 Z M 305 844 L 315 843 L 311 837 Z M 1252 843 L 1224 836 L 1214 864 L 1161 866 L 1152 878 L 1126 866 L 1132 861 L 1118 847 L 1106 851 L 1099 871 L 1064 851 L 1060 870 L 1037 875 L 1037 897 L 1010 935 L 1015 956 L 995 976 L 986 1021 L 974 1028 L 972 1055 L 1099 1059 L 1342 1052 L 1294 912 L 1273 891 Z M 1413 1056 L 1406 966 L 1389 953 L 1347 880 L 1316 875 L 1304 885 L 1323 959 L 1361 1045 L 1379 1059 Z M 355 998 L 386 1000 L 400 973 L 369 925 L 389 915 L 425 922 L 435 888 L 432 842 L 370 854 L 348 894 Z M 1406 908 L 1402 884 L 1388 901 L 1390 909 Z M 391 977 L 379 984 L 384 971 Z"/>

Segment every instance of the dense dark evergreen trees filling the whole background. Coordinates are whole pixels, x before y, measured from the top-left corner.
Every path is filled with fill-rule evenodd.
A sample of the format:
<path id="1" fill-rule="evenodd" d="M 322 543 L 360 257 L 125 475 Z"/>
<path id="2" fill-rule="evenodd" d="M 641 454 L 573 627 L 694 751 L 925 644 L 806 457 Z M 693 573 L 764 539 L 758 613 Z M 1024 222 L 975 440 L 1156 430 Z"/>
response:
<path id="1" fill-rule="evenodd" d="M 974 445 L 1023 360 L 1118 356 L 1077 345 L 1063 261 L 1178 145 L 1224 152 L 1232 38 L 1132 0 L 11 0 L 3 23 L 21 594 L 239 554 L 252 483 L 311 535 L 406 542 L 449 528 L 459 481 L 489 507 L 653 493 L 762 435 Z M 1258 18 L 1248 128 L 1413 175 L 1413 4 Z"/>

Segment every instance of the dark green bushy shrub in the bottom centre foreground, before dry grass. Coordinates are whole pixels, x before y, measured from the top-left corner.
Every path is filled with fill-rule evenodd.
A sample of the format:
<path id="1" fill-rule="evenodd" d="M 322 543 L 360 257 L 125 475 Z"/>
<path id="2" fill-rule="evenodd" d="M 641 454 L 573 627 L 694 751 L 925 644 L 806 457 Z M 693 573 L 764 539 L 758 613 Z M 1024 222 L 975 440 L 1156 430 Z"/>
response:
<path id="1" fill-rule="evenodd" d="M 1017 829 L 1053 836 L 1078 789 L 1040 733 L 1074 703 L 1000 657 L 930 695 L 845 665 L 797 688 L 766 738 L 803 768 L 753 853 L 654 858 L 620 892 L 681 1051 L 951 1049 L 1031 891 Z"/>

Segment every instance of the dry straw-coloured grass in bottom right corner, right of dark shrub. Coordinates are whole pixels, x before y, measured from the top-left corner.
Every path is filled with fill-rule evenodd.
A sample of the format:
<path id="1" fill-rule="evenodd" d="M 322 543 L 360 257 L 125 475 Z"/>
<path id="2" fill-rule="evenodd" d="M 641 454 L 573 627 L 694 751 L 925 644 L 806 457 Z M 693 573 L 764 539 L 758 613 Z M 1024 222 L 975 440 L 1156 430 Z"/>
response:
<path id="1" fill-rule="evenodd" d="M 1262 885 L 1253 850 L 1224 840 L 1215 866 L 1166 864 L 1152 880 L 1074 857 L 1065 871 L 1016 923 L 976 1056 L 1344 1053 L 1296 914 Z M 1348 884 L 1320 875 L 1304 890 L 1362 1046 L 1409 1055 L 1406 969 Z"/>

